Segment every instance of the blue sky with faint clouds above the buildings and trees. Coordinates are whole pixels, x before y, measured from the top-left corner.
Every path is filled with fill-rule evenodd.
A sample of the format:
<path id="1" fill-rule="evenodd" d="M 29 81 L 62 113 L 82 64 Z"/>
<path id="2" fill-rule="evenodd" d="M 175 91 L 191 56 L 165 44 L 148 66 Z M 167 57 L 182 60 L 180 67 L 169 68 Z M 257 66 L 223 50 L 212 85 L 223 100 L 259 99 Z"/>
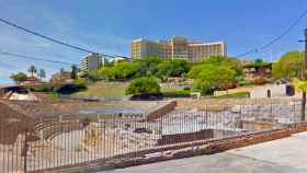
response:
<path id="1" fill-rule="evenodd" d="M 226 42 L 228 56 L 260 47 L 283 33 L 305 10 L 306 0 L 0 0 L 0 18 L 66 43 L 111 55 L 130 55 L 136 38 Z M 274 60 L 298 43 L 307 18 L 270 48 L 246 59 Z M 0 50 L 72 64 L 87 53 L 29 35 L 0 23 Z M 70 67 L 0 55 L 0 84 L 34 65 L 47 76 Z"/>

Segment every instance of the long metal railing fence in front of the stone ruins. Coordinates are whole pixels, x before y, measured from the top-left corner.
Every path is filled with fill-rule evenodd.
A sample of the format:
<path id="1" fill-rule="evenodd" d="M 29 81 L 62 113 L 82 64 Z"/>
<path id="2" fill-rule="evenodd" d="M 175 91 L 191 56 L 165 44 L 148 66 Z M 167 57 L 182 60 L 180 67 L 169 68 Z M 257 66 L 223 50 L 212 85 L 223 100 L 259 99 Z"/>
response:
<path id="1" fill-rule="evenodd" d="M 299 122 L 299 102 L 144 115 L 53 117 L 0 127 L 0 172 L 35 172 L 98 160 L 134 158 L 170 146 L 223 139 Z M 11 119 L 12 124 L 14 119 Z"/>

